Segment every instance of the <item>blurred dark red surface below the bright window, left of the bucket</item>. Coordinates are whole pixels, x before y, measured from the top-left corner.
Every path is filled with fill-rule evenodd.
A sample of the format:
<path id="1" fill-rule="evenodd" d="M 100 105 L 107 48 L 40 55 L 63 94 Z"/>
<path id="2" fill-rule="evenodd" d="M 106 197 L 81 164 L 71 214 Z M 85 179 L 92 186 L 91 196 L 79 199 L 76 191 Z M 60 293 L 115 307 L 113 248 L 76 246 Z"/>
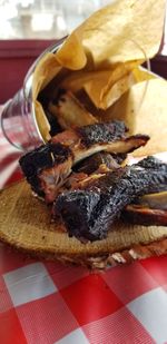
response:
<path id="1" fill-rule="evenodd" d="M 0 40 L 0 104 L 20 89 L 38 56 L 56 40 Z"/>

